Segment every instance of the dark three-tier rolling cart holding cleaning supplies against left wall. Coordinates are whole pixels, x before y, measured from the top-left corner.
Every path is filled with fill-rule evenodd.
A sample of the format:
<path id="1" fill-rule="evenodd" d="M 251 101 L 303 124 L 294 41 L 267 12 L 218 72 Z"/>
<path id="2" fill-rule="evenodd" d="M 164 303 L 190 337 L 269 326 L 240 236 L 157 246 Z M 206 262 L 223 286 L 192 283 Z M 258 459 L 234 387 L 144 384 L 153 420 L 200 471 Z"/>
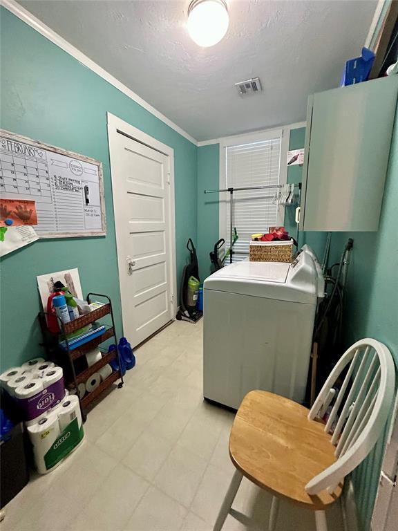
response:
<path id="1" fill-rule="evenodd" d="M 111 352 L 102 351 L 102 359 L 98 360 L 93 365 L 88 366 L 86 363 L 86 353 L 92 351 L 93 348 L 99 347 L 99 345 L 106 340 L 114 338 L 114 343 L 117 345 L 111 299 L 107 295 L 102 295 L 100 293 L 88 293 L 86 297 L 88 304 L 91 304 L 93 301 L 92 297 L 106 299 L 106 303 L 103 306 L 99 306 L 99 308 L 92 310 L 90 313 L 81 315 L 69 323 L 64 324 L 58 319 L 59 333 L 51 333 L 50 330 L 48 330 L 46 312 L 40 312 L 38 315 L 41 333 L 43 335 L 43 346 L 46 349 L 47 357 L 49 360 L 52 360 L 64 369 L 66 389 L 75 392 L 77 396 L 79 396 L 79 384 L 85 383 L 91 375 L 96 373 L 106 364 L 109 364 L 112 360 L 117 360 L 117 365 L 119 367 L 117 371 L 113 371 L 99 384 L 99 386 L 90 393 L 86 393 L 83 398 L 79 397 L 84 420 L 86 419 L 88 405 L 91 404 L 91 402 L 99 397 L 99 395 L 116 382 L 116 380 L 120 380 L 118 384 L 119 388 L 122 387 L 124 383 L 117 348 Z M 84 344 L 76 347 L 70 346 L 70 341 L 72 340 L 72 337 L 70 337 L 71 334 L 89 324 L 97 322 L 99 319 L 102 319 L 107 315 L 111 317 L 111 324 L 105 324 L 105 328 L 100 335 L 93 337 L 93 339 L 89 339 L 88 336 Z M 59 346 L 60 342 L 64 342 L 64 348 Z"/>

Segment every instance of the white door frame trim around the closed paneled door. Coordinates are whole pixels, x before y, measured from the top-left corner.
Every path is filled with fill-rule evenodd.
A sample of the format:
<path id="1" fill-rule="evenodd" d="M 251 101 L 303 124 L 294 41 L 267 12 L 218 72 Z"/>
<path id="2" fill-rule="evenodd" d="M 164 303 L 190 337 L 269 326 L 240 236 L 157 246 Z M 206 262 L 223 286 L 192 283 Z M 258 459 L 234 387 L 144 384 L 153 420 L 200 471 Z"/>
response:
<path id="1" fill-rule="evenodd" d="M 125 136 L 140 142 L 141 144 L 146 145 L 155 151 L 160 151 L 167 156 L 169 160 L 169 180 L 170 180 L 170 208 L 169 208 L 169 227 L 170 227 L 170 238 L 169 238 L 169 255 L 171 257 L 171 288 L 173 302 L 173 319 L 175 319 L 177 313 L 177 270 L 176 270 L 176 213 L 175 213 L 175 201 L 174 201 L 174 149 L 163 142 L 159 142 L 152 136 L 147 135 L 140 129 L 137 129 L 128 122 L 124 122 L 121 118 L 107 112 L 106 120 L 108 124 L 108 147 L 109 147 L 109 160 L 111 161 L 111 174 L 112 167 L 115 165 L 115 156 L 116 156 L 116 146 L 117 146 L 117 135 L 122 133 Z M 113 198 L 113 188 L 115 187 L 115 179 L 112 178 L 112 198 Z M 118 227 L 119 219 L 113 211 L 113 218 L 115 220 L 115 236 L 116 236 L 116 248 L 117 248 L 117 263 L 118 263 L 118 274 L 119 274 L 119 286 L 122 290 L 122 271 L 120 264 L 125 262 L 125 256 L 123 254 L 124 250 L 119 248 L 117 244 L 117 232 L 116 227 Z M 122 301 L 122 299 L 121 299 Z M 125 311 L 122 304 L 122 322 L 123 329 L 126 330 L 127 326 L 125 323 Z"/>

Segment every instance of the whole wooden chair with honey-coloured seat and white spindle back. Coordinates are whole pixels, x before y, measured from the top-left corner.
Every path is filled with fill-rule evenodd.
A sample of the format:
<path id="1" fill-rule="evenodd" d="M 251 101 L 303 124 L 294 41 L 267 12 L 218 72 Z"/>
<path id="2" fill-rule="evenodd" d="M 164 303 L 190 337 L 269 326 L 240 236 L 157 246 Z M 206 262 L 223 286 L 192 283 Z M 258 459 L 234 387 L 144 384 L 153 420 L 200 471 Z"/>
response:
<path id="1" fill-rule="evenodd" d="M 325 510 L 381 436 L 394 393 L 391 353 L 375 339 L 361 339 L 343 354 L 311 410 L 267 391 L 248 393 L 231 429 L 236 471 L 214 531 L 231 512 L 243 476 L 273 494 L 270 531 L 281 498 L 314 510 L 316 530 L 327 531 Z"/>

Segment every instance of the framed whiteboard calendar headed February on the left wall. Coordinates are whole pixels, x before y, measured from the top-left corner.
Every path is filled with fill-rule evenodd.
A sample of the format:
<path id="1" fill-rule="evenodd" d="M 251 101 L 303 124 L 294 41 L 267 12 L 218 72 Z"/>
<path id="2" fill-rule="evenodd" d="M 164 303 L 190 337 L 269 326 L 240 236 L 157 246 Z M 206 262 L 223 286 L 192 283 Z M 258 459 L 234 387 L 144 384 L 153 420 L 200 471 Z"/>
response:
<path id="1" fill-rule="evenodd" d="M 35 201 L 41 238 L 106 234 L 102 162 L 0 129 L 0 201 Z"/>

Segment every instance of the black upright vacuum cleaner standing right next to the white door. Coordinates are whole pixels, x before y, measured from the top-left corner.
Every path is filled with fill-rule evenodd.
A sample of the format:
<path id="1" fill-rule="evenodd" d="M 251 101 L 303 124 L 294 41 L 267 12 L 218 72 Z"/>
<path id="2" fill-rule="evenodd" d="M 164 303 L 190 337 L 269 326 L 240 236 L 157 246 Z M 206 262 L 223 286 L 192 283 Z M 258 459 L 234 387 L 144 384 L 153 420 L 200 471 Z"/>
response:
<path id="1" fill-rule="evenodd" d="M 184 265 L 184 269 L 182 270 L 180 309 L 177 312 L 176 319 L 178 321 L 196 323 L 196 321 L 202 317 L 203 313 L 196 308 L 195 297 L 192 297 L 189 292 L 191 277 L 196 279 L 198 283 L 200 282 L 198 257 L 196 256 L 196 249 L 191 238 L 189 238 L 187 242 L 187 249 L 189 250 L 189 263 Z M 195 304 L 195 306 L 193 306 L 193 304 Z"/>

